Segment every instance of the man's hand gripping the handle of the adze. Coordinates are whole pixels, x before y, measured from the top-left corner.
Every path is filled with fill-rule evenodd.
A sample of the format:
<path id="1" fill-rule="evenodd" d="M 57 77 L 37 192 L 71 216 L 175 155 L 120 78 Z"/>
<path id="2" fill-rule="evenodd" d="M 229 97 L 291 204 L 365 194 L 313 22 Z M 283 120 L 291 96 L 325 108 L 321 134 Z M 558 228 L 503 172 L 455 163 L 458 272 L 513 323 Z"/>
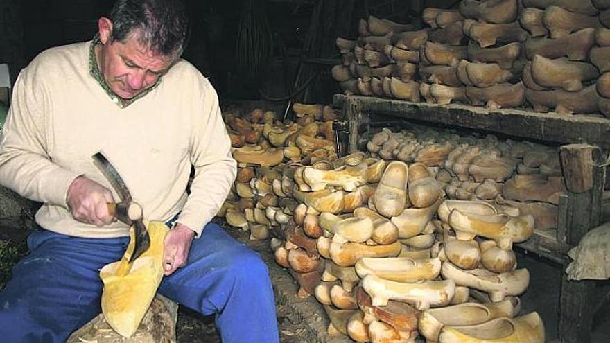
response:
<path id="1" fill-rule="evenodd" d="M 114 202 L 112 192 L 87 177 L 74 179 L 68 187 L 67 202 L 72 216 L 79 222 L 101 227 L 114 221 L 106 204 Z"/>

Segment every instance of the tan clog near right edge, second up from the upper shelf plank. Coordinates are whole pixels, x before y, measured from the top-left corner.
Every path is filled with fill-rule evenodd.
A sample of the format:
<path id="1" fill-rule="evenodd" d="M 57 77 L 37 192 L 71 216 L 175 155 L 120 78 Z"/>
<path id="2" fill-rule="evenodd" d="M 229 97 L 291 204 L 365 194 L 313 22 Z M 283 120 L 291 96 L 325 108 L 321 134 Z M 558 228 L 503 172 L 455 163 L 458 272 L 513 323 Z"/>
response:
<path id="1" fill-rule="evenodd" d="M 568 61 L 567 58 L 551 60 L 540 55 L 534 55 L 531 68 L 534 82 L 538 85 L 561 87 L 566 91 L 580 91 L 582 82 L 600 75 L 592 64 Z"/>

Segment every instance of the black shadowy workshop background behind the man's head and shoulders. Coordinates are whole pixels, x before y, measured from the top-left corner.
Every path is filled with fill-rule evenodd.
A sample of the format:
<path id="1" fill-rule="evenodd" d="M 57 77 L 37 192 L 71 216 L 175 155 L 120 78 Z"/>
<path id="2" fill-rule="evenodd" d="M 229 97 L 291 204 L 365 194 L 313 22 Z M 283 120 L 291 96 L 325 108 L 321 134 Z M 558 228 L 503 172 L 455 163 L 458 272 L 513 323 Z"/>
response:
<path id="1" fill-rule="evenodd" d="M 210 78 L 221 100 L 267 98 L 284 102 L 290 97 L 305 103 L 331 103 L 332 95 L 341 92 L 330 77 L 331 66 L 338 64 L 340 57 L 334 45 L 336 37 L 356 39 L 358 19 L 368 15 L 408 22 L 419 17 L 413 8 L 450 7 L 453 2 L 186 0 L 191 35 L 183 57 Z M 107 15 L 113 3 L 0 0 L 0 63 L 9 64 L 12 82 L 19 69 L 44 49 L 92 39 L 97 19 Z M 245 20 L 248 18 L 250 21 Z M 265 39 L 255 40 L 261 43 L 254 46 L 268 51 L 256 65 L 238 53 L 237 46 L 243 42 L 238 35 L 240 24 L 245 26 L 242 33 L 251 35 L 268 27 Z M 305 91 L 291 94 L 307 81 L 311 82 Z"/>

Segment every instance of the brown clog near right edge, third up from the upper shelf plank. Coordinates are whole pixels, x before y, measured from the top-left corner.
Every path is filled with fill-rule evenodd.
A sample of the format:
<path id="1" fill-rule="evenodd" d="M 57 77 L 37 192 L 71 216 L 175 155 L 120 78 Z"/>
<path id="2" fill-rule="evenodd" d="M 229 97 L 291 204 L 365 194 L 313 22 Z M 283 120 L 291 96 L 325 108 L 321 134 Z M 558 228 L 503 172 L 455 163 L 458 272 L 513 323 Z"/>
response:
<path id="1" fill-rule="evenodd" d="M 567 57 L 570 61 L 583 61 L 589 58 L 589 51 L 595 44 L 595 29 L 583 28 L 565 37 L 550 39 L 530 38 L 525 41 L 525 56 L 532 60 L 534 55 L 546 58 Z"/>

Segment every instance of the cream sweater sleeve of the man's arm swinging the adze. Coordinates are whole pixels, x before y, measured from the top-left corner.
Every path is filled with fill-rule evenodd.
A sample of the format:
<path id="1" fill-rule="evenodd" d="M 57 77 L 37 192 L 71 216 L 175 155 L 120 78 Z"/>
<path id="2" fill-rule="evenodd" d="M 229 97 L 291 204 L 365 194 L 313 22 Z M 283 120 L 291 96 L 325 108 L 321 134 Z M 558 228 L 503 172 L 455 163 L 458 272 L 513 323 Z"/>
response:
<path id="1" fill-rule="evenodd" d="M 31 200 L 67 207 L 67 189 L 78 173 L 54 164 L 48 155 L 51 96 L 43 80 L 36 61 L 17 77 L 0 133 L 0 185 Z"/>

